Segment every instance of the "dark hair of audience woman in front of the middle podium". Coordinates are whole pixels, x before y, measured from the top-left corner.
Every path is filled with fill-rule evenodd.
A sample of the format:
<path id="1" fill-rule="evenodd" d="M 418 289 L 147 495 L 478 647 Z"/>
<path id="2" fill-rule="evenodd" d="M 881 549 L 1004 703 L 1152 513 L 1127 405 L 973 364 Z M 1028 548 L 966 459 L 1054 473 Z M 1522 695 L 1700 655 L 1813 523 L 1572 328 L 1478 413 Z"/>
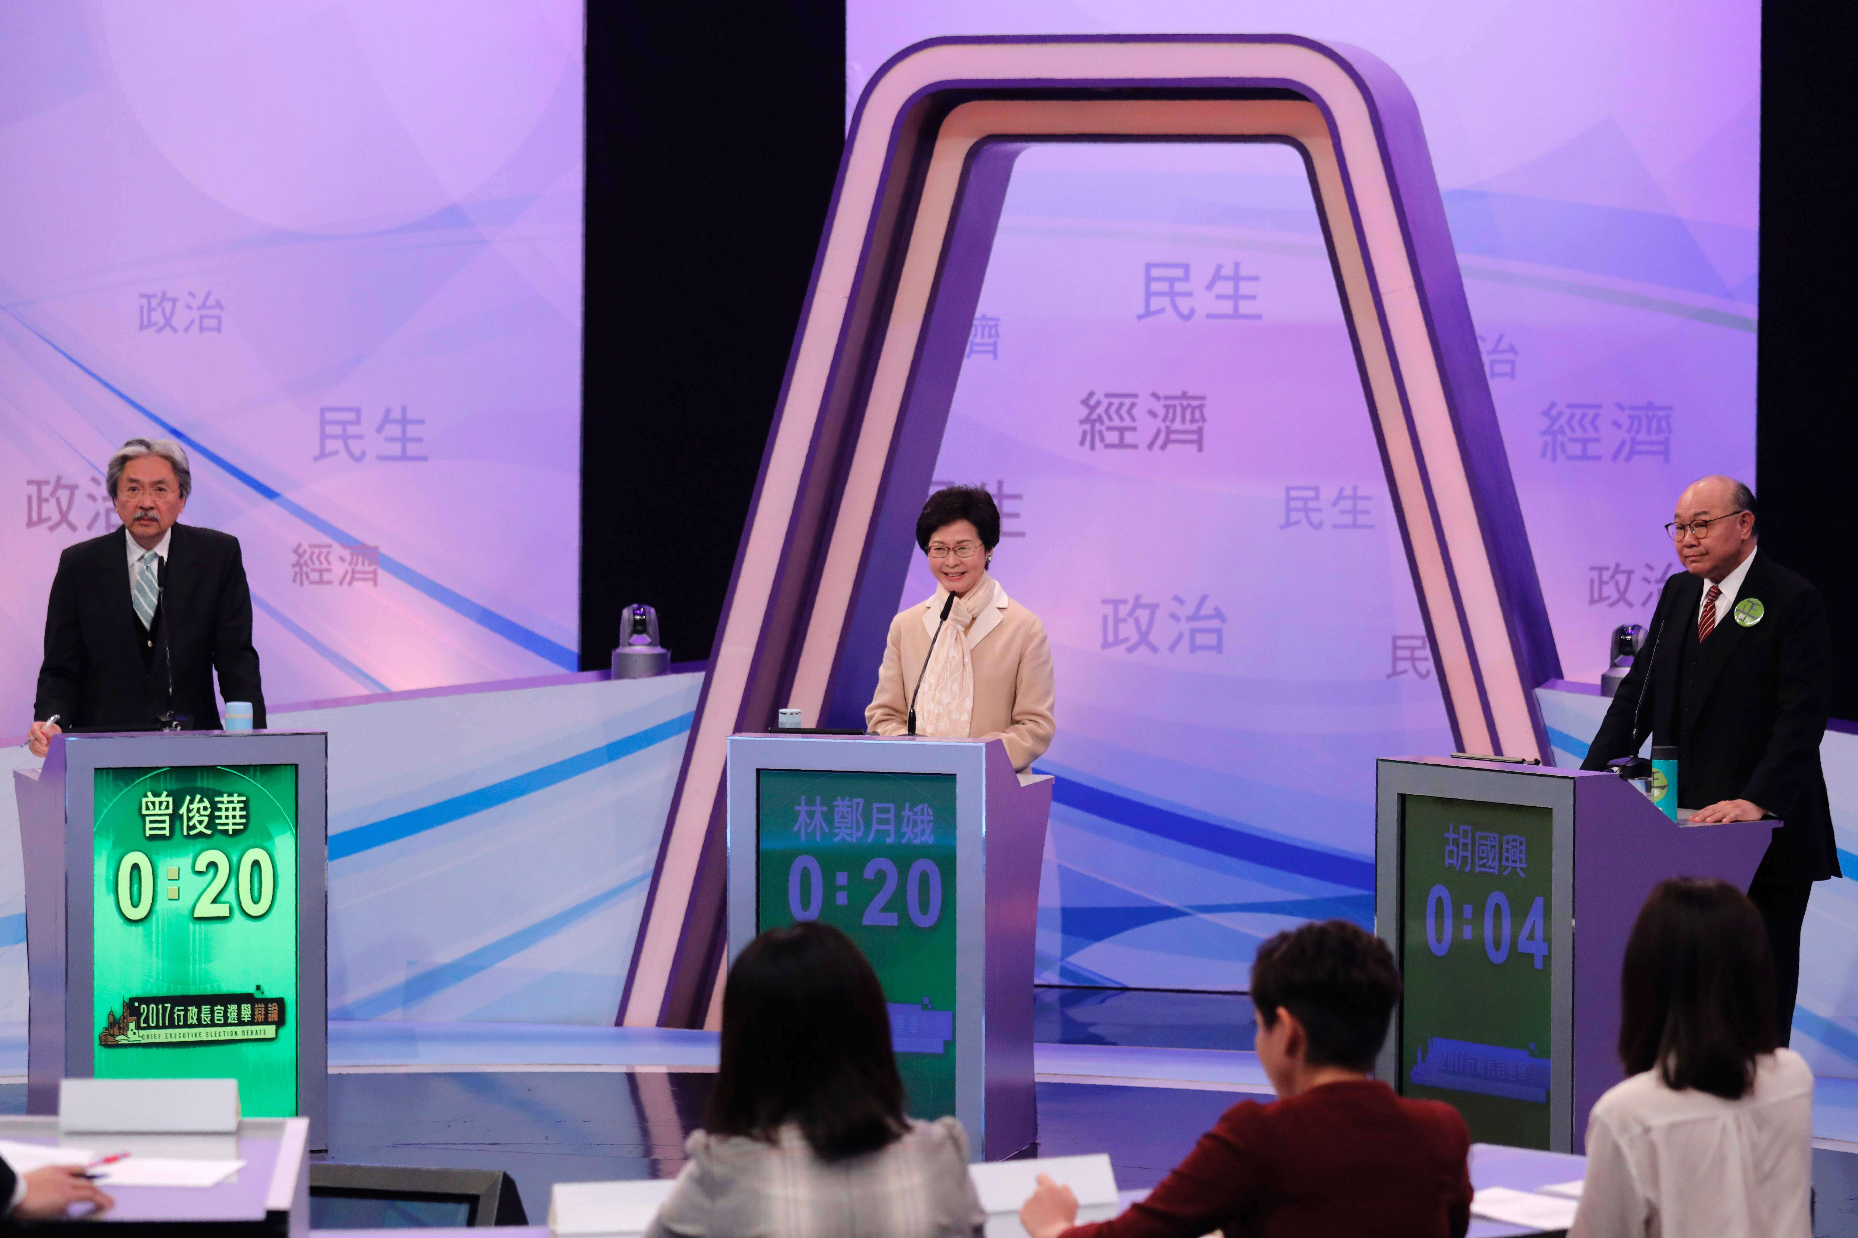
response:
<path id="1" fill-rule="evenodd" d="M 884 1147 L 909 1125 L 877 973 L 818 921 L 769 928 L 723 987 L 723 1060 L 704 1128 L 773 1141 L 799 1123 L 821 1160 Z"/>

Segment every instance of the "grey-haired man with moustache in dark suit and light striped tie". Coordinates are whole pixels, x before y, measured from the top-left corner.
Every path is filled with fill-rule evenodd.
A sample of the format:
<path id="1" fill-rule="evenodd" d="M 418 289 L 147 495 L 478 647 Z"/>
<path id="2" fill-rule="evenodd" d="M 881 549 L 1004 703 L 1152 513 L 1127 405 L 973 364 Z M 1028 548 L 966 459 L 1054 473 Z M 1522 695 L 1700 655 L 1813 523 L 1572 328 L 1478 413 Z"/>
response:
<path id="1" fill-rule="evenodd" d="M 193 492 L 188 453 L 165 438 L 132 438 L 110 457 L 104 484 L 123 527 L 58 561 L 32 752 L 45 755 L 67 726 L 217 729 L 214 670 L 225 700 L 251 702 L 262 728 L 238 538 L 175 523 Z"/>

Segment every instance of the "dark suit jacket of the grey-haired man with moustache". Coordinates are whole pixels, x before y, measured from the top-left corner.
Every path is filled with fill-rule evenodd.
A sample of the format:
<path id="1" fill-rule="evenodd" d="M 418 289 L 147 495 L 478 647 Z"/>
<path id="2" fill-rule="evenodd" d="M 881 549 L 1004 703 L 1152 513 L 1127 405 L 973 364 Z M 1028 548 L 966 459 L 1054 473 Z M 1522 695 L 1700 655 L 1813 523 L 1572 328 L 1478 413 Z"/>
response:
<path id="1" fill-rule="evenodd" d="M 253 726 L 262 728 L 264 687 L 238 538 L 175 525 L 152 629 L 143 629 L 130 601 L 126 542 L 128 533 L 117 529 L 58 559 L 32 716 L 56 713 L 67 729 L 147 728 L 167 709 L 165 642 L 175 659 L 175 713 L 191 716 L 195 729 L 219 729 L 217 670 L 225 700 L 249 700 Z"/>

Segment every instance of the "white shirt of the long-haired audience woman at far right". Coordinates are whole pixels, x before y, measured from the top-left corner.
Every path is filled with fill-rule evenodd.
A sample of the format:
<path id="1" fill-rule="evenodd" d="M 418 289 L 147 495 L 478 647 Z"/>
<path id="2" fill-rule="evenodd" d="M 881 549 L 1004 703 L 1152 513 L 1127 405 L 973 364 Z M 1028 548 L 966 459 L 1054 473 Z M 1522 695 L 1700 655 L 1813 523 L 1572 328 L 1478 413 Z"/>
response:
<path id="1" fill-rule="evenodd" d="M 1615 1084 L 1587 1119 L 1587 1186 L 1568 1238 L 1808 1238 L 1813 1071 L 1791 1049 L 1739 1101 Z"/>

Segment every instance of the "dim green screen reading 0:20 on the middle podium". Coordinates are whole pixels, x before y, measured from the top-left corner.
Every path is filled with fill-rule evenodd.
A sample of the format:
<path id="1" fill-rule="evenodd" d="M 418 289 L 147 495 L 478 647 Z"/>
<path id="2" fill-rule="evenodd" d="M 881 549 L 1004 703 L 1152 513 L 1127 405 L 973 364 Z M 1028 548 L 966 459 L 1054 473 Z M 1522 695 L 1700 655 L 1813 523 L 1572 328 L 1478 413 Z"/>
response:
<path id="1" fill-rule="evenodd" d="M 955 1112 L 955 896 L 953 774 L 758 772 L 754 928 L 858 943 L 914 1117 Z"/>

